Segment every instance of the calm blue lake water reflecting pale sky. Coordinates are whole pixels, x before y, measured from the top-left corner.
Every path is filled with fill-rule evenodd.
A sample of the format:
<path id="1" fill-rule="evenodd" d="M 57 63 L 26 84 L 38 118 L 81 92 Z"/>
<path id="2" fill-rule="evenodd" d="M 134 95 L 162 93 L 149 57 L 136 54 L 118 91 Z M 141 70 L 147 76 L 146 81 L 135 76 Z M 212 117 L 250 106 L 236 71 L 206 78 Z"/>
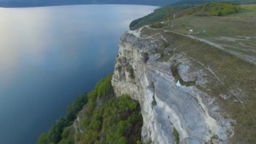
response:
<path id="1" fill-rule="evenodd" d="M 156 7 L 0 8 L 0 144 L 35 144 L 114 70 L 119 37 Z"/>

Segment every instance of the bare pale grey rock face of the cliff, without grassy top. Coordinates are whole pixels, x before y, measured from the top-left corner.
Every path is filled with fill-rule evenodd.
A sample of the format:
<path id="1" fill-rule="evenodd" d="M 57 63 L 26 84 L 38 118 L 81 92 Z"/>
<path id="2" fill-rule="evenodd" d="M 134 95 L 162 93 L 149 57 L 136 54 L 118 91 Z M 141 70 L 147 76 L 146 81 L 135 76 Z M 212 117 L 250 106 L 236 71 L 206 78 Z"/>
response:
<path id="1" fill-rule="evenodd" d="M 163 35 L 149 36 L 141 29 L 128 31 L 120 38 L 112 85 L 117 96 L 130 94 L 139 101 L 144 122 L 142 141 L 228 143 L 234 134 L 230 123 L 235 120 L 222 116 L 215 99 L 201 90 L 210 80 L 211 69 L 197 69 L 200 62 L 195 63 L 185 53 L 163 49 L 160 54 L 164 41 Z M 158 61 L 163 54 L 169 59 Z M 177 86 L 178 80 L 181 86 Z"/>

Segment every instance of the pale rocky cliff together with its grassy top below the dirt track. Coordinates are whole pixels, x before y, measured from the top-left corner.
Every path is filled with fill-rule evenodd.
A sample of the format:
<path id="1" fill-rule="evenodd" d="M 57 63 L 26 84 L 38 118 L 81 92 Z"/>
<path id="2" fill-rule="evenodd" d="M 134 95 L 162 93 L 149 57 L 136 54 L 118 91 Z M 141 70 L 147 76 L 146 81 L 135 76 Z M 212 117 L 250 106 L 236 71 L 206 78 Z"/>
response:
<path id="1" fill-rule="evenodd" d="M 112 85 L 139 101 L 144 143 L 253 143 L 254 70 L 200 41 L 143 27 L 120 38 Z"/>

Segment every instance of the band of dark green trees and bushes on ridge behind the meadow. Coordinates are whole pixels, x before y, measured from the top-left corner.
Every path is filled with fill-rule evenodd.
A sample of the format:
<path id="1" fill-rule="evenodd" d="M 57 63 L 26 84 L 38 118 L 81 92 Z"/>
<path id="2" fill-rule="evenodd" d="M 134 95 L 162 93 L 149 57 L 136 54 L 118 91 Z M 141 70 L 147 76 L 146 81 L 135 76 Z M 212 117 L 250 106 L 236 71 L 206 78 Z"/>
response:
<path id="1" fill-rule="evenodd" d="M 175 18 L 180 18 L 196 12 L 198 16 L 226 16 L 228 14 L 238 13 L 240 9 L 239 5 L 219 2 L 207 3 L 196 7 L 193 5 L 168 5 L 163 8 L 156 9 L 153 13 L 150 13 L 147 16 L 132 21 L 130 29 L 137 29 L 145 25 L 156 24 L 157 21 L 164 21 L 166 16 L 170 16 L 169 13 L 171 10 L 174 10 Z"/>

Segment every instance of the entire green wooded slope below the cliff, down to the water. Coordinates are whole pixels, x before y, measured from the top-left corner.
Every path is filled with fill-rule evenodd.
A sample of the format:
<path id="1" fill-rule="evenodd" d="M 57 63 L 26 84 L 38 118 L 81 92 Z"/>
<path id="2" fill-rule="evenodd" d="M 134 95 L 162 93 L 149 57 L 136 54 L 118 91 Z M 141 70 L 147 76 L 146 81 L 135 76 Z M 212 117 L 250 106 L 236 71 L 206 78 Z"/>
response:
<path id="1" fill-rule="evenodd" d="M 143 124 L 139 104 L 133 101 L 129 95 L 120 97 L 114 96 L 114 90 L 111 85 L 112 74 L 103 78 L 95 86 L 95 89 L 87 93 L 85 104 L 85 116 L 81 118 L 81 125 L 84 133 L 75 133 L 70 126 L 74 119 L 67 125 L 66 116 L 58 120 L 48 133 L 42 133 L 37 144 L 71 144 L 80 141 L 81 143 L 94 144 L 125 144 L 141 143 L 141 127 Z M 80 99 L 80 98 L 77 98 Z M 68 112 L 75 109 L 77 102 L 75 100 Z M 97 102 L 101 101 L 101 102 Z M 79 105 L 80 106 L 80 105 Z M 82 108 L 82 107 L 79 107 Z M 81 110 L 81 109 L 80 109 Z M 70 112 L 72 114 L 72 112 Z M 78 111 L 75 112 L 77 117 Z M 71 115 L 72 118 L 74 115 Z M 67 114 L 68 115 L 68 114 Z"/>

